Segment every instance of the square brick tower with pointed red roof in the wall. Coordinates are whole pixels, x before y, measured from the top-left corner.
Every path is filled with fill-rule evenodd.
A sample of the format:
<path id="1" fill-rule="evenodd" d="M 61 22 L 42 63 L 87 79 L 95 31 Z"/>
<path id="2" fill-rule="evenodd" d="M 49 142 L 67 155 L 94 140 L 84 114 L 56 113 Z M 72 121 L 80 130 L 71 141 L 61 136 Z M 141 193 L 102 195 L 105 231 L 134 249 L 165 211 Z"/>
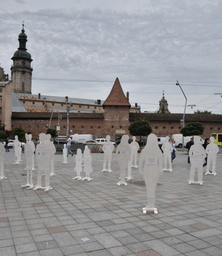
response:
<path id="1" fill-rule="evenodd" d="M 128 134 L 130 107 L 131 104 L 124 95 L 117 77 L 109 96 L 103 104 L 104 130 L 112 139 Z"/>

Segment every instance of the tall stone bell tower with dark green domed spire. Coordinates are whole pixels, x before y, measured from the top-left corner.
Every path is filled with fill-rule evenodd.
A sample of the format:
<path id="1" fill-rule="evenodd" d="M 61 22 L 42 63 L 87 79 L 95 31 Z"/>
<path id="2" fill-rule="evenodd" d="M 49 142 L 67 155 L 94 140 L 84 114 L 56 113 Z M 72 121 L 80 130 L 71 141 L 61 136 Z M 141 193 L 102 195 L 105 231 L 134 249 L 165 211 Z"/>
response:
<path id="1" fill-rule="evenodd" d="M 19 47 L 15 51 L 12 60 L 12 85 L 15 93 L 32 93 L 32 67 L 31 54 L 27 52 L 27 35 L 22 24 L 22 33 L 18 35 Z"/>

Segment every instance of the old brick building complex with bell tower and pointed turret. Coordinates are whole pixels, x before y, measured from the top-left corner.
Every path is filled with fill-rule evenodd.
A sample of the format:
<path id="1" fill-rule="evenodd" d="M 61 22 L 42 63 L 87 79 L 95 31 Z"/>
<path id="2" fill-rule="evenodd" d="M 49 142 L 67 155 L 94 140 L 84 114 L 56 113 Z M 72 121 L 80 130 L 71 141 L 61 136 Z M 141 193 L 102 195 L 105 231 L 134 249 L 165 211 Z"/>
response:
<path id="1" fill-rule="evenodd" d="M 38 137 L 59 124 L 59 134 L 66 135 L 68 108 L 69 134 L 92 134 L 94 139 L 110 135 L 115 140 L 123 134 L 129 135 L 129 124 L 140 118 L 149 120 L 158 136 L 180 133 L 183 114 L 170 114 L 164 93 L 157 113 L 141 113 L 137 103 L 135 106 L 129 103 L 129 93 L 124 95 L 118 78 L 106 100 L 32 94 L 32 59 L 26 50 L 24 32 L 23 28 L 18 35 L 19 48 L 12 57 L 12 81 L 8 81 L 8 75 L 0 68 L 0 124 L 5 125 L 8 133 L 20 126 Z M 222 130 L 222 115 L 186 114 L 185 120 L 201 122 L 205 126 L 204 136 Z"/>

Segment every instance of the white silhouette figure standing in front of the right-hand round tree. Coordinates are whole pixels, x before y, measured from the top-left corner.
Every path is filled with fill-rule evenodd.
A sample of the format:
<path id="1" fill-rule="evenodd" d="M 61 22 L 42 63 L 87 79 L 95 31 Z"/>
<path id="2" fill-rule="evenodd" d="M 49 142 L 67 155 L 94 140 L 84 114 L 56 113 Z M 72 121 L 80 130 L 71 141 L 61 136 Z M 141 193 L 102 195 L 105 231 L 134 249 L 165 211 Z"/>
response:
<path id="1" fill-rule="evenodd" d="M 204 147 L 200 144 L 200 136 L 193 136 L 194 144 L 191 145 L 189 150 L 189 157 L 191 162 L 190 167 L 190 180 L 189 184 L 203 184 L 203 160 L 207 154 Z M 198 181 L 194 181 L 195 171 L 197 169 Z"/>

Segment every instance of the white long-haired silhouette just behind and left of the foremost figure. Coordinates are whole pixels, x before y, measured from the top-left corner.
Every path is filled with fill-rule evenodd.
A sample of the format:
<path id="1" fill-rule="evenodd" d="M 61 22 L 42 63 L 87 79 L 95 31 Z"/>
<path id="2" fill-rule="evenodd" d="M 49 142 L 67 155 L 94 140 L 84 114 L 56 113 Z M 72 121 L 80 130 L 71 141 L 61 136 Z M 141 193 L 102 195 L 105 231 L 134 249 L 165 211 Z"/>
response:
<path id="1" fill-rule="evenodd" d="M 131 156 L 131 148 L 128 143 L 128 136 L 124 134 L 121 138 L 121 143 L 119 143 L 116 148 L 116 157 L 119 164 L 119 170 L 120 170 L 120 176 L 121 176 L 121 179 L 119 180 L 119 182 L 117 182 L 118 186 L 120 185 L 127 186 L 127 183 L 125 182 L 126 168 L 128 166 L 130 156 Z"/>

